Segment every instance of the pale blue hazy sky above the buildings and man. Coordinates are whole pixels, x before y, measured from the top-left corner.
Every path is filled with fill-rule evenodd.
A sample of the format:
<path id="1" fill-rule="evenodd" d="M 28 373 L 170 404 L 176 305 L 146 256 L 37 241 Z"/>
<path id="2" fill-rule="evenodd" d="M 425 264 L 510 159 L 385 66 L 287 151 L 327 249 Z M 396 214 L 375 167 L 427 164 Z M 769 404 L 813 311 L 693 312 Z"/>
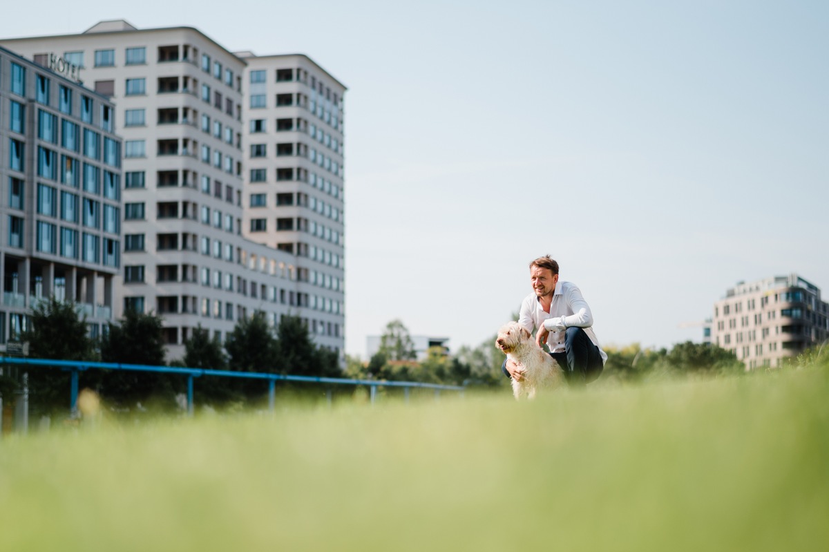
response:
<path id="1" fill-rule="evenodd" d="M 543 254 L 603 345 L 699 341 L 740 281 L 829 290 L 829 2 L 206 6 L 23 3 L 0 36 L 196 27 L 347 85 L 351 356 L 395 319 L 452 351 L 493 339 Z"/>

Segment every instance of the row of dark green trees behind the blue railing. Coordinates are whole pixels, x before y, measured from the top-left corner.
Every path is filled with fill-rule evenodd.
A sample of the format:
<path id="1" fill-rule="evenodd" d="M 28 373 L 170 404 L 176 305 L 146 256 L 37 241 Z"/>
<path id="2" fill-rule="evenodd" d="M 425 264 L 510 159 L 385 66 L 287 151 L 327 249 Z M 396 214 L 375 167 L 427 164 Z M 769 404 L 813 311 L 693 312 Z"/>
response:
<path id="1" fill-rule="evenodd" d="M 166 346 L 162 317 L 128 310 L 117 323 L 109 323 L 99 339 L 90 338 L 85 319 L 75 304 L 54 298 L 32 308 L 29 326 L 20 337 L 28 342 L 28 356 L 65 361 L 100 361 L 119 364 L 165 366 Z M 208 370 L 257 371 L 271 374 L 342 376 L 336 351 L 318 347 L 298 317 L 286 316 L 274 329 L 263 312 L 236 322 L 224 343 L 201 326 L 185 343 L 185 356 L 170 366 Z M 27 371 L 29 401 L 35 414 L 65 411 L 69 404 L 70 374 L 58 368 L 36 367 Z M 0 376 L 4 396 L 20 385 L 20 377 Z M 187 390 L 182 375 L 133 370 L 84 370 L 80 388 L 98 392 L 117 409 L 134 409 L 152 403 L 162 408 L 176 405 L 176 396 Z M 201 403 L 221 406 L 229 402 L 260 399 L 268 388 L 260 380 L 200 376 L 194 392 Z"/>

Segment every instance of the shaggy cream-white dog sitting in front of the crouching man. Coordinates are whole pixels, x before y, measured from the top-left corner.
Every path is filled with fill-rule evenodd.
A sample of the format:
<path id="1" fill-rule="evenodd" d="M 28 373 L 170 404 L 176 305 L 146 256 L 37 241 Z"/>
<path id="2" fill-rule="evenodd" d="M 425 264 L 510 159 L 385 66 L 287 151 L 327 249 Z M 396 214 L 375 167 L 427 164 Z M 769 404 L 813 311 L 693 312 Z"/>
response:
<path id="1" fill-rule="evenodd" d="M 495 344 L 507 353 L 507 358 L 519 365 L 518 370 L 524 377 L 521 381 L 512 379 L 512 395 L 520 399 L 526 394 L 528 399 L 536 396 L 536 390 L 544 387 L 554 389 L 564 380 L 564 372 L 559 363 L 547 354 L 530 332 L 518 322 L 507 322 L 500 330 Z"/>

